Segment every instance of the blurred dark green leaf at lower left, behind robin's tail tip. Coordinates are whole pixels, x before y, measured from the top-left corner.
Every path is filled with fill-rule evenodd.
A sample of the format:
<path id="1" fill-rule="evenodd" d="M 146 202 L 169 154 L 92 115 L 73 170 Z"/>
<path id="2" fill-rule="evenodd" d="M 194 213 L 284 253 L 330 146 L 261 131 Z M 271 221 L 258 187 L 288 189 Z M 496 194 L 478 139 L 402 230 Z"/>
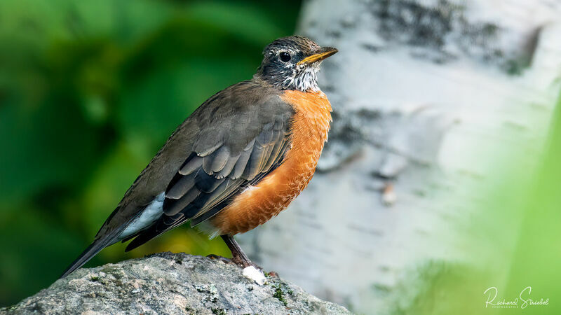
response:
<path id="1" fill-rule="evenodd" d="M 21 207 L 0 213 L 0 303 L 16 302 L 58 279 L 83 244 L 56 218 Z"/>

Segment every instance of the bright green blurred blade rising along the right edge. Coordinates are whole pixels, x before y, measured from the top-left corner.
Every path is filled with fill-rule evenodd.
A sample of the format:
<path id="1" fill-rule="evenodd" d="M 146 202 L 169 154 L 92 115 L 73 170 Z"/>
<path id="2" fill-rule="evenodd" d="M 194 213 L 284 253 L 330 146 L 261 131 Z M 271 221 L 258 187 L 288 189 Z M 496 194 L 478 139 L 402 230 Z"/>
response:
<path id="1" fill-rule="evenodd" d="M 525 309 L 531 314 L 561 314 L 561 94 L 552 122 L 539 172 L 527 192 L 528 202 L 521 205 L 522 224 L 515 235 L 515 252 L 506 280 L 508 296 L 517 296 L 521 288 L 532 286 L 534 300 L 550 298 L 548 306 Z M 508 314 L 508 309 L 501 314 Z"/>

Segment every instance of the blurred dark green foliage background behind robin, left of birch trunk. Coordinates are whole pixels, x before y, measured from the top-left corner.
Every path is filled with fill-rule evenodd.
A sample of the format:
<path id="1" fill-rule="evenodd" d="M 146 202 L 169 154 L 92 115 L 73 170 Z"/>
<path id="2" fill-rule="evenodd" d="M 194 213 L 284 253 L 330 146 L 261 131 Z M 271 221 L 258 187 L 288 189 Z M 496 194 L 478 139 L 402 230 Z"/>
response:
<path id="1" fill-rule="evenodd" d="M 169 134 L 252 76 L 299 1 L 0 2 L 0 304 L 48 286 Z M 155 251 L 227 255 L 180 228 L 90 265 Z"/>

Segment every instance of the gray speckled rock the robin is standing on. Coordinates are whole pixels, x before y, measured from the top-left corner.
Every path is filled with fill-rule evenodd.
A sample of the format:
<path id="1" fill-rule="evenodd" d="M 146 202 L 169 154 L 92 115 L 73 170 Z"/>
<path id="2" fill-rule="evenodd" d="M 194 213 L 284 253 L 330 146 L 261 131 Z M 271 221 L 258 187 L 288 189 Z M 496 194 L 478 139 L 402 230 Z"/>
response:
<path id="1" fill-rule="evenodd" d="M 79 269 L 0 314 L 349 314 L 276 276 L 259 286 L 236 265 L 158 253 Z"/>

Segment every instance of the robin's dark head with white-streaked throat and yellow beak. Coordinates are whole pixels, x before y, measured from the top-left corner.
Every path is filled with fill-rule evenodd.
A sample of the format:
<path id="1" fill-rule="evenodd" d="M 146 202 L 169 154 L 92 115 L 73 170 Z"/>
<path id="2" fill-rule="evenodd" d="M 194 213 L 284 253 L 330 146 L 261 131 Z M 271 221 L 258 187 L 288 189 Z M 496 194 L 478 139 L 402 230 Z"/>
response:
<path id="1" fill-rule="evenodd" d="M 263 50 L 263 62 L 255 77 L 280 90 L 317 91 L 317 73 L 323 59 L 337 49 L 320 47 L 302 36 L 278 38 Z"/>

